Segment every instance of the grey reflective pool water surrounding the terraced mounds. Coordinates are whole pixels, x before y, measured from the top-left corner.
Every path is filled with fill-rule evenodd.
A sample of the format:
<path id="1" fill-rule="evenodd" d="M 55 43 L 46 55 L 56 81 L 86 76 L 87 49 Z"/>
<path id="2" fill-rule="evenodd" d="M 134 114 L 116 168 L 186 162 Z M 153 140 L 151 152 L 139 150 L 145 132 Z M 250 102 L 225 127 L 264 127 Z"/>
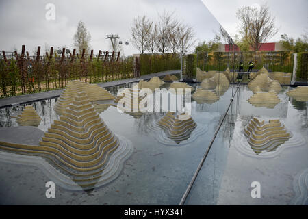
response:
<path id="1" fill-rule="evenodd" d="M 125 87 L 131 87 L 131 84 Z M 116 94 L 118 88 L 108 90 Z M 298 174 L 307 172 L 305 169 L 308 168 L 307 102 L 290 99 L 285 94 L 288 89 L 283 87 L 279 93 L 281 103 L 274 109 L 268 109 L 248 103 L 247 99 L 253 93 L 246 86 L 240 86 L 186 205 L 287 205 L 296 202 L 294 200 L 297 203 L 305 200 L 296 197 L 300 197 L 305 188 L 305 183 L 297 183 L 303 178 L 298 177 Z M 44 185 L 49 179 L 39 168 L 1 162 L 0 203 L 177 205 L 234 91 L 235 88 L 230 86 L 212 104 L 193 101 L 192 118 L 197 128 L 188 140 L 180 144 L 171 144 L 164 132 L 153 127 L 164 116 L 163 113 L 133 117 L 109 107 L 100 114 L 101 118 L 114 133 L 131 140 L 134 147 L 133 155 L 125 162 L 117 179 L 92 191 L 72 192 L 57 187 L 56 198 L 48 199 Z M 54 104 L 54 99 L 32 103 L 42 117 L 38 128 L 43 131 L 57 119 L 52 110 Z M 1 109 L 0 125 L 17 126 L 14 116 L 22 108 Z M 290 139 L 291 143 L 282 144 L 272 153 L 251 153 L 243 129 L 253 116 L 262 120 L 280 119 L 286 129 L 295 133 L 294 138 Z M 253 181 L 261 183 L 261 198 L 251 198 Z"/>

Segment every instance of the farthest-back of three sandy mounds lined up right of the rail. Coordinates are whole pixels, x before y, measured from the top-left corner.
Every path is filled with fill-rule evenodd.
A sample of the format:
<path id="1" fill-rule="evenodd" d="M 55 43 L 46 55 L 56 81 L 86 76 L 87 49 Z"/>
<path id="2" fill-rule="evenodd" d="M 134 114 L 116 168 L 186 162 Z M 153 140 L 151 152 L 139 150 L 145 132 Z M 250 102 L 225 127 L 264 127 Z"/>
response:
<path id="1" fill-rule="evenodd" d="M 254 93 L 257 92 L 257 87 L 259 87 L 262 92 L 274 91 L 279 94 L 281 91 L 280 83 L 270 79 L 267 74 L 257 75 L 253 81 L 248 83 L 248 88 Z"/>

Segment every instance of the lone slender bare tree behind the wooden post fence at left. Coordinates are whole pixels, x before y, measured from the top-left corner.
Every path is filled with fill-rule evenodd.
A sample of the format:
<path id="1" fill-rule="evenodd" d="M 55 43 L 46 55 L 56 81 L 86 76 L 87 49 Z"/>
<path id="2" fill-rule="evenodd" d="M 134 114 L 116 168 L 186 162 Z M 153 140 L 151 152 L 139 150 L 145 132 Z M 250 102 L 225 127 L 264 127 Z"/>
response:
<path id="1" fill-rule="evenodd" d="M 83 49 L 86 49 L 86 54 L 90 53 L 90 40 L 91 35 L 87 31 L 84 22 L 79 21 L 74 35 L 74 47 L 77 47 L 79 54 L 82 53 Z"/>

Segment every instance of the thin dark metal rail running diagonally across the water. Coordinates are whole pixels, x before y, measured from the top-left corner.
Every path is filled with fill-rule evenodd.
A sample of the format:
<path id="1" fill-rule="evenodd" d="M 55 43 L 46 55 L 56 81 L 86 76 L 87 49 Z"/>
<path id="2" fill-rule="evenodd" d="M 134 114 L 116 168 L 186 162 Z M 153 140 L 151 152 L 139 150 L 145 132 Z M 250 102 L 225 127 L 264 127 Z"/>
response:
<path id="1" fill-rule="evenodd" d="M 226 118 L 227 113 L 229 112 L 229 109 L 231 107 L 231 104 L 233 103 L 233 98 L 235 96 L 235 94 L 238 92 L 238 89 L 240 88 L 239 86 L 236 87 L 237 89 L 235 90 L 235 93 L 233 94 L 232 98 L 230 99 L 230 103 L 228 106 L 227 111 L 224 113 L 224 117 L 222 118 L 220 125 L 218 126 L 218 129 L 216 130 L 213 138 L 211 139 L 211 142 L 209 144 L 209 146 L 207 147 L 207 151 L 205 151 L 205 154 L 203 155 L 201 162 L 198 165 L 198 168 L 196 169 L 196 172 L 194 172 L 194 176 L 192 177 L 192 180 L 190 181 L 190 183 L 188 184 L 188 188 L 186 188 L 185 193 L 183 194 L 181 201 L 179 203 L 179 205 L 183 205 L 186 201 L 186 198 L 188 197 L 188 194 L 190 194 L 190 190 L 192 190 L 192 185 L 194 185 L 194 181 L 196 181 L 196 177 L 198 177 L 198 174 L 203 166 L 203 163 L 205 162 L 205 159 L 207 158 L 207 155 L 209 154 L 209 150 L 211 149 L 211 146 L 214 143 L 214 140 L 216 139 L 216 136 L 218 134 L 218 131 L 220 130 L 220 127 L 222 126 L 222 123 L 224 122 L 224 118 Z"/>

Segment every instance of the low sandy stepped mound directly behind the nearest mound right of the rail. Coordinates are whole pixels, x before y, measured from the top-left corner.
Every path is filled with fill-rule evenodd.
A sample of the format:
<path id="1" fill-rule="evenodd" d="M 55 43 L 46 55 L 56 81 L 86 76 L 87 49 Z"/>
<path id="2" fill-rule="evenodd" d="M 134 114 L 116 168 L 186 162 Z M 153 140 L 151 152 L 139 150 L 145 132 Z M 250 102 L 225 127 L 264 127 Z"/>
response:
<path id="1" fill-rule="evenodd" d="M 281 100 L 274 91 L 261 92 L 259 86 L 255 89 L 255 94 L 248 99 L 248 102 L 255 107 L 274 108 Z"/>

